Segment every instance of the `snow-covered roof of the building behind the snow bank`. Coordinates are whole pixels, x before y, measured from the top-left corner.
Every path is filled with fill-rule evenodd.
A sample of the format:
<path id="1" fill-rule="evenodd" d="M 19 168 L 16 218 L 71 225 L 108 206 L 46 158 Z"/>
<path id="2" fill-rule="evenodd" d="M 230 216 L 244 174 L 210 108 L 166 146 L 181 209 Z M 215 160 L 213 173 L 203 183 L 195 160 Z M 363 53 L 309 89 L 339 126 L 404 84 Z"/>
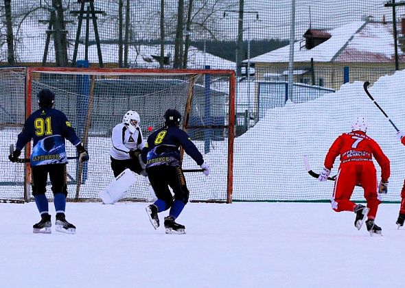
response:
<path id="1" fill-rule="evenodd" d="M 294 62 L 393 62 L 392 23 L 352 22 L 329 31 L 329 40 L 308 50 L 294 43 Z M 401 53 L 399 51 L 399 53 Z M 251 58 L 250 62 L 288 62 L 290 45 Z"/>

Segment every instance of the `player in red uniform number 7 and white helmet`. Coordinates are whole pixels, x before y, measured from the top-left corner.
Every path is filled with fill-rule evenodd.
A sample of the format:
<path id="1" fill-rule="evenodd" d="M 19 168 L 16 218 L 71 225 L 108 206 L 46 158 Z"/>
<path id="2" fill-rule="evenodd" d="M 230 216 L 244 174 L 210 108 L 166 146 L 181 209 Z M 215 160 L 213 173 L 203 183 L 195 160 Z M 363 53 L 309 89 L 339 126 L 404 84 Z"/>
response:
<path id="1" fill-rule="evenodd" d="M 319 181 L 327 180 L 337 156 L 340 155 L 340 166 L 335 180 L 332 195 L 332 209 L 336 212 L 353 211 L 356 213 L 354 226 L 360 230 L 367 218 L 366 226 L 370 235 L 381 235 L 381 228 L 374 223 L 380 193 L 387 192 L 390 176 L 390 162 L 377 142 L 366 134 L 367 122 L 364 117 L 357 117 L 351 125 L 351 132 L 338 136 L 329 148 L 325 158 L 325 167 L 319 174 Z M 381 181 L 378 186 L 377 172 L 373 157 L 381 167 Z M 350 201 L 356 184 L 364 189 L 367 207 Z"/>

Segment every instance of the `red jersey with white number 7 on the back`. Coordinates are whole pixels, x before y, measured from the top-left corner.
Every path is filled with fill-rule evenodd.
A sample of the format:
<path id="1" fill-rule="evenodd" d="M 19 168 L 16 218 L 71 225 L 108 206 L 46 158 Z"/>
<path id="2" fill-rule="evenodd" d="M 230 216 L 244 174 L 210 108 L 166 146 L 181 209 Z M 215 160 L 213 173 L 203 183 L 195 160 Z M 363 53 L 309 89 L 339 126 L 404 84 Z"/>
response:
<path id="1" fill-rule="evenodd" d="M 334 141 L 325 158 L 325 168 L 332 169 L 336 157 L 340 155 L 340 166 L 353 163 L 373 163 L 373 156 L 381 167 L 381 179 L 388 181 L 390 162 L 377 142 L 362 131 L 344 133 Z"/>

